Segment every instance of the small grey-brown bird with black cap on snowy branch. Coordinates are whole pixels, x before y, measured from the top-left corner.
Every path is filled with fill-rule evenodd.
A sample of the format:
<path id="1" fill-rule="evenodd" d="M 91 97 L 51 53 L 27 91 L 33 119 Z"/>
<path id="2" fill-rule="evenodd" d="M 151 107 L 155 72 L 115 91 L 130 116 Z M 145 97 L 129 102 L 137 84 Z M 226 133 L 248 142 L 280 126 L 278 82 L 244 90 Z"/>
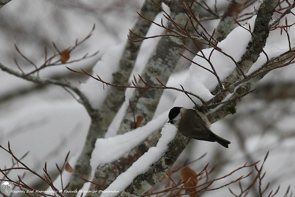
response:
<path id="1" fill-rule="evenodd" d="M 218 142 L 228 148 L 230 141 L 214 134 L 210 122 L 205 114 L 194 109 L 173 107 L 169 112 L 168 123 L 173 124 L 184 136 L 209 142 Z"/>

